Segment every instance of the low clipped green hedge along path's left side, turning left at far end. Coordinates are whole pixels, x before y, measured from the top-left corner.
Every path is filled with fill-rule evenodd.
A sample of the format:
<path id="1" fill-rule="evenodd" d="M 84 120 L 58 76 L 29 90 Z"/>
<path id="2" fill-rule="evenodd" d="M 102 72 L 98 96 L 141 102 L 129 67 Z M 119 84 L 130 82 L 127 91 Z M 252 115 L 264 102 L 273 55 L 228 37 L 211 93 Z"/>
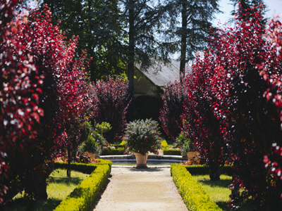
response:
<path id="1" fill-rule="evenodd" d="M 99 159 L 100 160 L 100 159 Z M 68 163 L 56 162 L 55 167 L 66 168 Z M 98 163 L 71 163 L 71 170 L 91 172 L 54 211 L 89 211 L 99 196 L 99 191 L 106 184 L 111 173 L 111 160 L 100 160 Z"/>

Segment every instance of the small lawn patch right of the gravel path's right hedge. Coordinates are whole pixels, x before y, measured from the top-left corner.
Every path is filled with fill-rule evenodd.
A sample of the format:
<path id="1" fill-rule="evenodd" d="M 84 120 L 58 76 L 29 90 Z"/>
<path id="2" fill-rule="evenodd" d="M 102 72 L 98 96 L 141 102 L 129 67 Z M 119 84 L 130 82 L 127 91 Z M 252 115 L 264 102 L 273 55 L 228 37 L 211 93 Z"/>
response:
<path id="1" fill-rule="evenodd" d="M 230 200 L 229 195 L 231 190 L 228 186 L 232 183 L 232 177 L 227 175 L 221 175 L 219 181 L 211 181 L 209 175 L 193 175 L 204 188 L 204 191 L 209 194 L 209 197 L 214 200 L 216 205 L 221 207 L 224 211 L 231 211 L 231 208 L 227 206 L 228 201 Z M 252 210 L 253 207 L 246 207 L 244 203 L 238 203 L 241 211 Z"/>

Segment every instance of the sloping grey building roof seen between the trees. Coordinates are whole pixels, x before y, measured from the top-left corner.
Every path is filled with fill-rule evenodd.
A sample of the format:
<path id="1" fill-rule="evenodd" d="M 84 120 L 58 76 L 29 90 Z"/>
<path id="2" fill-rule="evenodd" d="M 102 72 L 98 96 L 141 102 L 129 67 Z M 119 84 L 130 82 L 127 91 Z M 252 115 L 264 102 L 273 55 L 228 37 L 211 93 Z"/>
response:
<path id="1" fill-rule="evenodd" d="M 140 70 L 140 65 L 135 65 L 135 67 Z M 159 70 L 160 69 L 160 70 Z M 158 71 L 159 70 L 159 71 Z M 186 64 L 185 70 L 191 70 L 190 66 Z M 147 69 L 147 71 L 142 71 L 142 73 L 152 81 L 152 83 L 157 84 L 161 87 L 166 86 L 169 82 L 174 82 L 180 75 L 180 61 L 171 60 L 171 64 L 161 65 L 157 64 Z"/>

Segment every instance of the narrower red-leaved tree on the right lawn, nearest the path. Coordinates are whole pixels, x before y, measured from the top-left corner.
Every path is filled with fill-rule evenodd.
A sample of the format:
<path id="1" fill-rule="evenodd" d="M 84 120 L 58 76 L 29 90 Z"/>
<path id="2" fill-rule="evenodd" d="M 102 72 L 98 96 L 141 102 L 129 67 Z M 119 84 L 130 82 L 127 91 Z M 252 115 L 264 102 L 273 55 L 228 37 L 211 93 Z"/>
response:
<path id="1" fill-rule="evenodd" d="M 214 116 L 210 82 L 213 75 L 212 56 L 197 54 L 192 72 L 187 75 L 187 99 L 182 118 L 184 129 L 200 153 L 200 158 L 209 165 L 209 177 L 220 179 L 226 160 L 227 148 L 220 134 L 219 120 Z"/>

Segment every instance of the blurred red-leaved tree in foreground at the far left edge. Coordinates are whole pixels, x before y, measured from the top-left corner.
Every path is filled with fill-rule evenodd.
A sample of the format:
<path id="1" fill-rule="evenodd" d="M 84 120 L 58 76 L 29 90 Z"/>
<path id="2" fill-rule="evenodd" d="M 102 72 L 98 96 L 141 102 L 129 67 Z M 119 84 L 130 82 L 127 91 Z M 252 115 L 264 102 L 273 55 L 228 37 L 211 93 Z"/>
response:
<path id="1" fill-rule="evenodd" d="M 43 114 L 42 108 L 37 106 L 42 80 L 27 46 L 18 41 L 18 34 L 27 25 L 27 20 L 13 21 L 16 4 L 20 1 L 0 3 L 1 201 L 13 178 L 8 161 L 19 153 L 25 153 L 25 147 L 37 136 L 33 123 Z"/>

